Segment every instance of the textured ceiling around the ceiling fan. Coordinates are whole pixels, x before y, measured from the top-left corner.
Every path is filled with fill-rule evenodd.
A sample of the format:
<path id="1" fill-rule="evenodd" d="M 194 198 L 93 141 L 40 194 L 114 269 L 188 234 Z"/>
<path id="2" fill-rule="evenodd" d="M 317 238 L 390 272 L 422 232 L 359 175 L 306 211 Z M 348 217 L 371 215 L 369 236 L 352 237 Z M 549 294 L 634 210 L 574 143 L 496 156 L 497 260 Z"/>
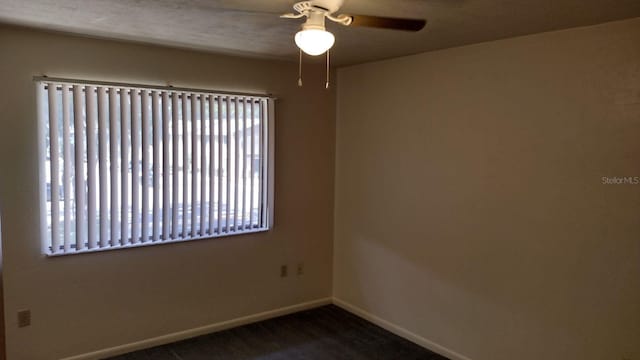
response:
<path id="1" fill-rule="evenodd" d="M 330 1 L 330 0 L 318 0 Z M 0 0 L 0 22 L 218 53 L 297 60 L 302 20 L 280 19 L 288 0 Z M 348 28 L 334 64 L 640 16 L 640 0 L 345 0 L 339 13 L 428 20 L 419 33 Z"/>

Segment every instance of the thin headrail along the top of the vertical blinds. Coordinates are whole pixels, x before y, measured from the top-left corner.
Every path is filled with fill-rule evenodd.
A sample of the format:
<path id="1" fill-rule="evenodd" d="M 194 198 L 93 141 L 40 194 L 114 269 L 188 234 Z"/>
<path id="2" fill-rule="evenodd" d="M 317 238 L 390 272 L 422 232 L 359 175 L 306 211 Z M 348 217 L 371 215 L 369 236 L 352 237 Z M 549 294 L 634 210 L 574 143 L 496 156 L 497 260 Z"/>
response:
<path id="1" fill-rule="evenodd" d="M 215 89 L 188 88 L 188 87 L 178 87 L 178 86 L 171 86 L 171 85 L 168 85 L 168 86 L 167 85 L 148 85 L 148 84 L 133 84 L 133 83 L 96 81 L 96 80 L 80 80 L 80 79 L 56 78 L 56 77 L 49 77 L 49 76 L 34 76 L 33 81 L 54 82 L 58 84 L 67 84 L 67 85 L 95 85 L 95 86 L 105 86 L 105 87 L 127 87 L 127 88 L 161 90 L 161 91 L 168 90 L 168 91 L 192 92 L 192 93 L 214 94 L 214 95 L 251 96 L 251 97 L 271 99 L 271 100 L 278 99 L 277 97 L 275 97 L 273 94 L 270 94 L 270 93 L 251 93 L 251 92 L 225 91 L 225 90 L 215 90 Z"/>

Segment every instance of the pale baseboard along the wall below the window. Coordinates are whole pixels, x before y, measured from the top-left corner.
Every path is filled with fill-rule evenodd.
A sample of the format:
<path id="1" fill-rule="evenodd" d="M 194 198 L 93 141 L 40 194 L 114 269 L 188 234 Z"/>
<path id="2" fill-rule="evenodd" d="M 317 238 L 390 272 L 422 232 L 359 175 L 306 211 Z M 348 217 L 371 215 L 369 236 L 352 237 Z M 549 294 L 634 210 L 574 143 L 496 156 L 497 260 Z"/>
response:
<path id="1" fill-rule="evenodd" d="M 106 357 L 122 355 L 122 354 L 126 354 L 128 352 L 132 352 L 136 350 L 146 349 L 146 348 L 150 348 L 158 345 L 164 345 L 164 344 L 192 338 L 199 335 L 209 334 L 212 332 L 229 329 L 236 326 L 246 325 L 246 324 L 254 323 L 257 321 L 271 319 L 271 318 L 282 316 L 282 315 L 292 314 L 298 311 L 303 311 L 303 310 L 308 310 L 308 309 L 316 308 L 323 305 L 328 305 L 332 303 L 331 300 L 332 300 L 331 298 L 323 298 L 323 299 L 317 299 L 313 301 L 307 301 L 304 303 L 285 306 L 282 308 L 268 310 L 268 311 L 264 311 L 264 312 L 253 314 L 253 315 L 248 315 L 248 316 L 243 316 L 236 319 L 222 321 L 219 323 L 214 323 L 214 324 L 204 325 L 204 326 L 200 326 L 193 329 L 178 331 L 172 334 L 157 336 L 150 339 L 140 340 L 140 341 L 124 344 L 124 345 L 119 345 L 111 348 L 93 351 L 90 353 L 75 355 L 75 356 L 64 358 L 62 360 L 98 360 L 98 359 L 104 359 Z"/>

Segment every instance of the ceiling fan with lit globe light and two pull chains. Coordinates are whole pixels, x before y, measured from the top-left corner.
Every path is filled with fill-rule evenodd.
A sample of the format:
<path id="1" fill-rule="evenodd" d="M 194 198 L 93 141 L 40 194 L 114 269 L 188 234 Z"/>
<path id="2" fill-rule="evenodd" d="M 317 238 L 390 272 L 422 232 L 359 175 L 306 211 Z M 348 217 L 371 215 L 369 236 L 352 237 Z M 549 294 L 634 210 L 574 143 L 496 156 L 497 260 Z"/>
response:
<path id="1" fill-rule="evenodd" d="M 300 49 L 298 65 L 298 86 L 302 86 L 302 52 L 311 56 L 327 54 L 327 81 L 329 88 L 329 49 L 335 43 L 335 36 L 325 28 L 325 20 L 329 19 L 345 26 L 366 26 L 391 30 L 420 31 L 427 24 L 424 19 L 404 19 L 370 15 L 336 14 L 344 0 L 310 0 L 293 5 L 294 13 L 280 15 L 281 18 L 306 18 L 300 31 L 294 37 Z"/>

